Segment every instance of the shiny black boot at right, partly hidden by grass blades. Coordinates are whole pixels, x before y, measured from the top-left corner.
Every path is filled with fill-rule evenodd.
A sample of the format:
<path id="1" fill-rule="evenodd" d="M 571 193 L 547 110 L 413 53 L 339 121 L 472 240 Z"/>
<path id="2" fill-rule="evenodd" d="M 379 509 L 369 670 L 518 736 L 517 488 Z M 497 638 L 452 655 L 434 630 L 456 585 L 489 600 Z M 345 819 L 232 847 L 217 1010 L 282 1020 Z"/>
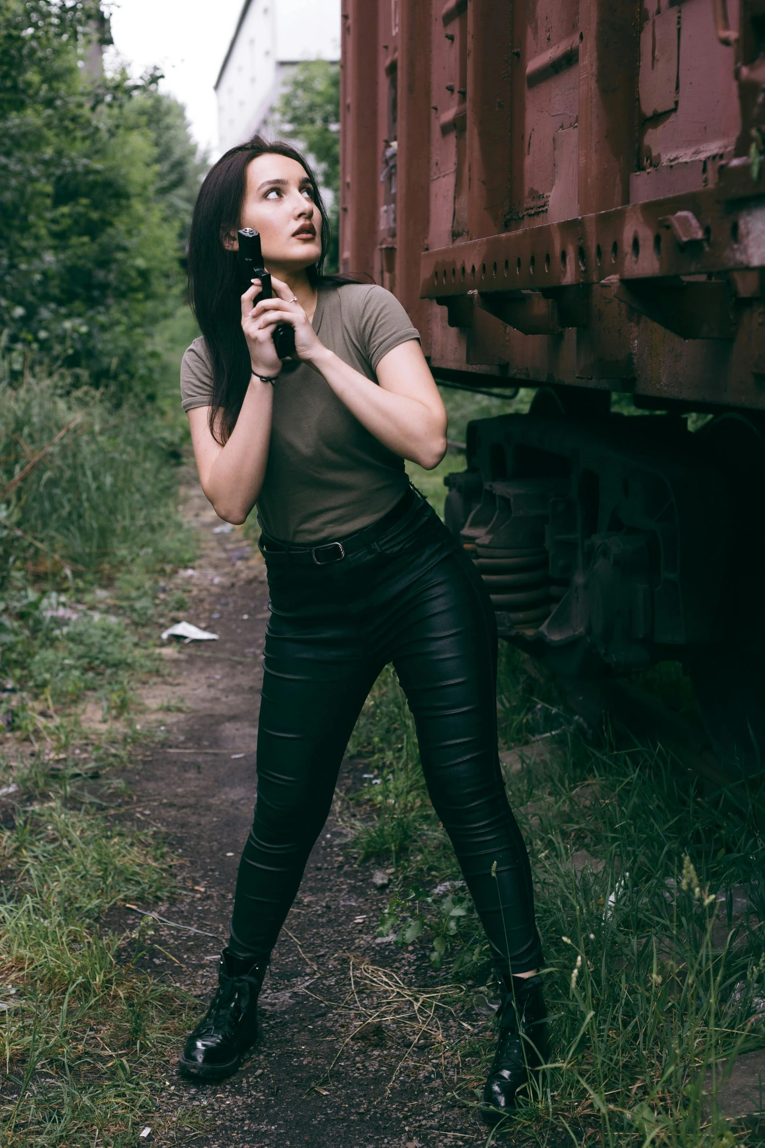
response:
<path id="1" fill-rule="evenodd" d="M 497 1013 L 499 1045 L 484 1086 L 483 1102 L 497 1120 L 515 1106 L 515 1094 L 526 1085 L 548 1057 L 547 1008 L 542 978 L 505 977 L 502 1001 Z"/>

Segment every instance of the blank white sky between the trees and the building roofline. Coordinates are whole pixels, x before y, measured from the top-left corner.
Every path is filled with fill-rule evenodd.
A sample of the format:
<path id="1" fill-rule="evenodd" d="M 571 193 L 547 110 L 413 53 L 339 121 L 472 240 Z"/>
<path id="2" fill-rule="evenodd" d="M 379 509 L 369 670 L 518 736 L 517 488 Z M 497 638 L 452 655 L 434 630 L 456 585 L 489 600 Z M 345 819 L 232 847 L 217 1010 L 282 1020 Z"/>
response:
<path id="1" fill-rule="evenodd" d="M 107 67 L 115 54 L 131 75 L 157 64 L 162 88 L 186 106 L 194 138 L 216 152 L 218 108 L 212 88 L 236 28 L 243 0 L 115 0 Z"/>

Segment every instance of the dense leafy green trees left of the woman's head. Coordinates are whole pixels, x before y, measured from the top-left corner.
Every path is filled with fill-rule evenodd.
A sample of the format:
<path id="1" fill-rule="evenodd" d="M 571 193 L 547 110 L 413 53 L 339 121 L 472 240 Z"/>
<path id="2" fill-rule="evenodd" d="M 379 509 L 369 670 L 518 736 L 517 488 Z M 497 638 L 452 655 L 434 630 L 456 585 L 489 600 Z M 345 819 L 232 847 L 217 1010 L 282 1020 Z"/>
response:
<path id="1" fill-rule="evenodd" d="M 0 0 L 0 331 L 13 380 L 45 359 L 150 397 L 200 168 L 156 73 L 84 67 L 96 20 L 91 0 Z"/>

